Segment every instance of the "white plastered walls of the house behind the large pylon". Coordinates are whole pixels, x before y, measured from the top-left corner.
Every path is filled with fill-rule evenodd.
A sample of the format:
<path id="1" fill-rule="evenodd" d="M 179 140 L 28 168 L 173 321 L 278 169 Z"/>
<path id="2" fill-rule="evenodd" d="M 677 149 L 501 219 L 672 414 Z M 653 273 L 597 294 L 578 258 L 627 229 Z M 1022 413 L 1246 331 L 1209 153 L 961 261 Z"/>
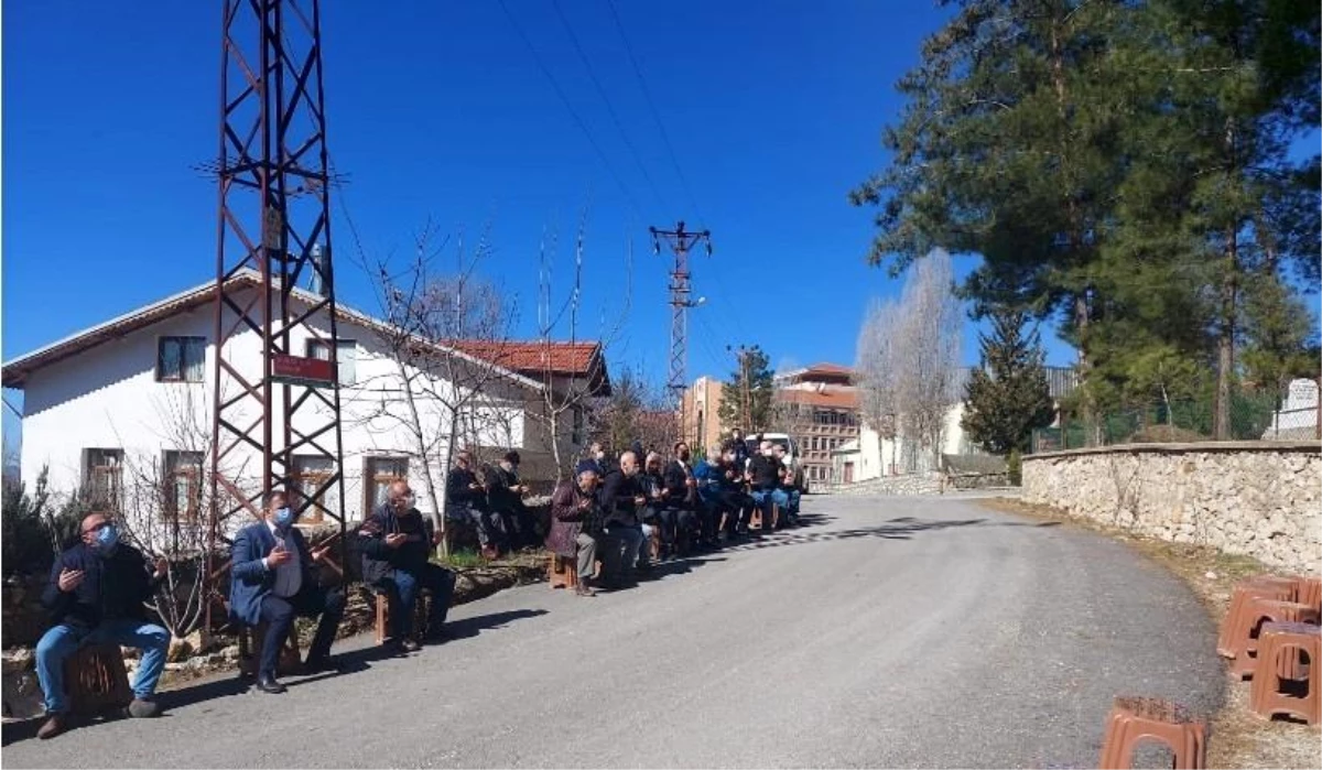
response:
<path id="1" fill-rule="evenodd" d="M 212 434 L 210 390 L 215 366 L 213 311 L 202 307 L 181 312 L 151 327 L 93 347 L 77 356 L 33 372 L 24 394 L 21 474 L 34 483 L 42 467 L 49 468 L 48 487 L 57 496 L 74 493 L 83 480 L 85 449 L 122 449 L 126 488 L 137 478 L 160 478 L 167 450 L 204 451 L 209 458 Z M 328 333 L 325 318 L 312 319 L 320 333 Z M 300 332 L 300 336 L 305 332 Z M 161 336 L 201 336 L 208 339 L 202 382 L 157 382 L 157 339 Z M 449 419 L 444 401 L 453 401 L 448 381 L 424 378 L 442 398 L 415 388 L 426 451 L 418 451 L 414 421 L 405 398 L 403 378 L 389 356 L 378 332 L 368 325 L 340 323 L 340 339 L 354 340 L 353 385 L 340 389 L 344 452 L 344 509 L 350 520 L 361 519 L 368 505 L 364 472 L 373 456 L 410 459 L 410 484 L 418 507 L 432 511 L 436 501 L 423 483 L 422 455 L 432 474 L 438 493 L 444 491 L 443 458 L 447 456 Z M 246 331 L 231 337 L 227 357 L 245 377 L 260 372 L 260 344 Z M 305 352 L 305 339 L 293 340 L 293 351 Z M 416 374 L 412 368 L 406 369 Z M 476 381 L 460 378 L 460 381 Z M 227 389 L 225 396 L 233 393 Z M 295 397 L 301 389 L 295 388 Z M 481 398 L 473 401 L 479 425 L 477 441 L 493 446 L 520 447 L 537 433 L 535 421 L 525 418 L 530 390 L 508 381 L 488 382 Z M 535 398 L 535 392 L 534 398 Z M 274 411 L 282 411 L 283 388 L 274 390 Z M 303 413 L 300 413 L 301 417 Z M 313 409 L 295 425 L 308 430 L 324 425 L 325 407 Z M 255 410 L 233 411 L 235 423 L 255 417 Z M 570 421 L 567 421 L 570 422 Z M 567 431 L 571 425 L 566 425 Z M 275 425 L 274 435 L 283 434 Z M 534 435 L 543 441 L 539 434 Z M 279 443 L 279 438 L 276 443 Z M 333 443 L 323 445 L 333 446 Z M 209 463 L 209 459 L 206 460 Z M 225 472 L 245 479 L 246 488 L 259 488 L 260 458 L 250 447 L 239 447 L 225 458 Z M 245 472 L 253 468 L 253 472 Z"/>

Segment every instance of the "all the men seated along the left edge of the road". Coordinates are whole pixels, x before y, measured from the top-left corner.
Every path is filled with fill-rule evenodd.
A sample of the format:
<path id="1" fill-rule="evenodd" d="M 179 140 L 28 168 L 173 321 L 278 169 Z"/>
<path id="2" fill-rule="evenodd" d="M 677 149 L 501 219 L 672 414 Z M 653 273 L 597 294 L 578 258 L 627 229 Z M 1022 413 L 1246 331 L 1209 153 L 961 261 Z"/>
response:
<path id="1" fill-rule="evenodd" d="M 669 464 L 662 464 L 656 452 L 640 463 L 640 454 L 641 447 L 635 447 L 612 464 L 602 446 L 592 445 L 575 478 L 553 495 L 546 545 L 576 560 L 580 595 L 595 593 L 591 576 L 599 557 L 604 587 L 628 585 L 637 573 L 648 572 L 650 553 L 644 544 L 653 533 L 664 553 L 686 553 L 797 523 L 793 474 L 785 467 L 784 452 L 771 442 L 761 442 L 760 452 L 748 458 L 743 437 L 736 434 L 697 466 L 683 442 L 674 445 Z M 461 504 L 460 515 L 473 519 L 484 550 L 526 541 L 534 528 L 522 509 L 526 488 L 517 475 L 518 454 L 509 452 L 500 471 L 484 474 L 485 483 L 472 472 L 471 463 L 472 458 L 460 452 L 447 483 L 451 504 Z M 761 513 L 761 529 L 750 532 L 755 509 Z M 266 626 L 256 688 L 276 695 L 286 692 L 276 669 L 295 617 L 317 619 L 303 673 L 337 669 L 330 644 L 344 617 L 345 594 L 319 579 L 315 568 L 325 560 L 329 546 L 308 545 L 283 492 L 266 496 L 262 515 L 234 538 L 229 611 L 238 624 Z M 364 521 L 356 537 L 364 582 L 389 602 L 389 644 L 399 652 L 419 648 L 412 610 L 422 589 L 432 593 L 423 640 L 443 642 L 455 576 L 430 562 L 440 535 L 431 519 L 414 507 L 407 482 L 390 484 L 387 500 Z M 169 562 L 160 558 L 149 564 L 140 550 L 120 540 L 120 529 L 110 516 L 93 513 L 83 519 L 79 540 L 56 560 L 42 594 L 54 624 L 36 650 L 46 709 L 38 737 L 52 738 L 70 726 L 63 664 L 87 644 L 141 650 L 128 714 L 160 713 L 155 692 L 171 634 L 148 620 L 145 605 L 168 574 Z"/>

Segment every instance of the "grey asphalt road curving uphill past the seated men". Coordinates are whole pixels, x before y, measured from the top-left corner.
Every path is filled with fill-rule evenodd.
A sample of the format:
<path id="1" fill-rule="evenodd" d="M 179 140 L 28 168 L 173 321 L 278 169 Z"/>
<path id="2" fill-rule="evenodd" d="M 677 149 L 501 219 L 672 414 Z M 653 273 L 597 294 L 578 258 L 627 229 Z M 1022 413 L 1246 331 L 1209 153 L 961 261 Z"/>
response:
<path id="1" fill-rule="evenodd" d="M 1218 705 L 1214 632 L 1107 538 L 968 499 L 805 501 L 809 527 L 591 599 L 545 583 L 346 673 L 163 695 L 156 721 L 20 740 L 5 767 L 1095 766 L 1116 695 Z M 11 725 L 12 726 L 12 725 Z M 8 732 L 8 730 L 7 730 Z M 12 740 L 11 733 L 11 740 Z"/>

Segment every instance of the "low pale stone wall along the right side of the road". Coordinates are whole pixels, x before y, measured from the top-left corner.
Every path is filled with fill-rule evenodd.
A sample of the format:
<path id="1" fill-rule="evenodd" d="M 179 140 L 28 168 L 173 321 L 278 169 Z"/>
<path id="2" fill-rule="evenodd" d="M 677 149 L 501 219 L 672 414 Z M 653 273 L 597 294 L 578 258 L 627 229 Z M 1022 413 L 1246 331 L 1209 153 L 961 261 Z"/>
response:
<path id="1" fill-rule="evenodd" d="M 1322 442 L 1132 445 L 1023 458 L 1023 499 L 1322 573 Z"/>

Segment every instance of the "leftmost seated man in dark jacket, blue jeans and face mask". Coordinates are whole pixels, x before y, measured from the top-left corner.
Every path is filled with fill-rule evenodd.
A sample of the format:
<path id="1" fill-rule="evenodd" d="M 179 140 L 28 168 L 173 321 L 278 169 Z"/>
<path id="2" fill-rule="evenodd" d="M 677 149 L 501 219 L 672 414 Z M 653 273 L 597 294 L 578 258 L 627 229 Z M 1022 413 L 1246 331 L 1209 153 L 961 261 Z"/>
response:
<path id="1" fill-rule="evenodd" d="M 65 692 L 65 659 L 83 644 L 115 644 L 143 651 L 134 679 L 134 717 L 155 717 L 160 706 L 152 697 L 165 669 L 169 631 L 147 622 L 143 602 L 156 593 L 169 565 L 161 558 L 155 569 L 141 552 L 119 541 L 119 529 L 104 513 L 82 520 L 81 542 L 59 554 L 50 569 L 50 583 L 41 605 L 54 626 L 37 642 L 37 679 L 45 695 L 46 721 L 37 737 L 46 740 L 69 729 L 69 696 Z"/>

